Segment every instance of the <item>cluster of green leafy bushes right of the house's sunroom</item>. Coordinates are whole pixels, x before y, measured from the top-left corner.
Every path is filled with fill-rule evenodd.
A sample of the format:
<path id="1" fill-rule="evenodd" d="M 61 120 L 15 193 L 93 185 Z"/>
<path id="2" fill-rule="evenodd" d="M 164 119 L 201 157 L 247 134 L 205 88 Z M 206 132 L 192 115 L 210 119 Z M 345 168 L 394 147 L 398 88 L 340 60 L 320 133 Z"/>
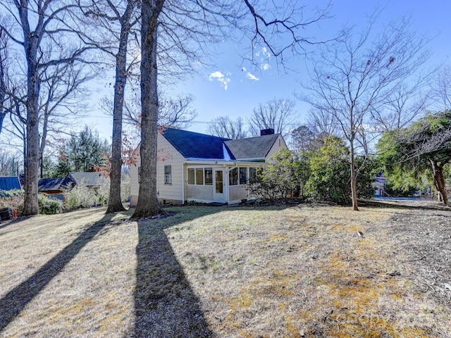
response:
<path id="1" fill-rule="evenodd" d="M 257 180 L 249 182 L 249 190 L 259 199 L 287 199 L 304 197 L 305 192 L 313 201 L 330 201 L 342 205 L 351 204 L 350 151 L 339 137 L 325 139 L 321 149 L 304 151 L 294 156 L 287 149 L 280 149 L 261 168 Z M 360 198 L 374 195 L 373 181 L 378 165 L 371 158 L 357 156 L 359 177 L 357 194 Z"/>

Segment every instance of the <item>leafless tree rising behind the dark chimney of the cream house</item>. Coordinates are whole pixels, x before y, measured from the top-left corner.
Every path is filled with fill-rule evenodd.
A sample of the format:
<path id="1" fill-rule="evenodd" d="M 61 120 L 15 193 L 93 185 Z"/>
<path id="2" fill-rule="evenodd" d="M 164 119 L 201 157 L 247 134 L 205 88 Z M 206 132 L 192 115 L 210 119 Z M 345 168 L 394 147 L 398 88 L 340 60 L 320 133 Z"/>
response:
<path id="1" fill-rule="evenodd" d="M 249 134 L 260 136 L 260 131 L 273 129 L 276 134 L 286 135 L 295 116 L 295 102 L 291 99 L 272 99 L 259 104 L 247 119 Z"/>

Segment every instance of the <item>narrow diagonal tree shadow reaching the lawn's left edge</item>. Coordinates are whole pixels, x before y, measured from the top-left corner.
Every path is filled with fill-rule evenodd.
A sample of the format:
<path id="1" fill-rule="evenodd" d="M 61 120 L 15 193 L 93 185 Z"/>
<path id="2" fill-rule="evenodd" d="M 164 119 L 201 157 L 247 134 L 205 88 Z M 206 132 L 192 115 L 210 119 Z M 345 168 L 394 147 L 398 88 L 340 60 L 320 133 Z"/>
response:
<path id="1" fill-rule="evenodd" d="M 27 306 L 49 282 L 89 243 L 105 225 L 109 224 L 114 214 L 104 215 L 98 222 L 83 231 L 66 248 L 51 258 L 42 268 L 8 292 L 0 299 L 0 332 L 11 323 L 23 308 Z"/>

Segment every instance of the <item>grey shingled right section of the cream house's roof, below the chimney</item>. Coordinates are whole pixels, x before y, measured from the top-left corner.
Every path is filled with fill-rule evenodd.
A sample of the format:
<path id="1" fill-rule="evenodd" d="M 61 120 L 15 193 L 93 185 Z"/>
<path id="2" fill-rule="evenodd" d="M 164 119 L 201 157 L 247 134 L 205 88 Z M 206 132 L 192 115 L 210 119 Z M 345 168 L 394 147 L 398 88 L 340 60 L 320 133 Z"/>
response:
<path id="1" fill-rule="evenodd" d="M 249 137 L 249 139 L 231 139 L 226 146 L 237 160 L 252 160 L 266 158 L 279 134 Z"/>

